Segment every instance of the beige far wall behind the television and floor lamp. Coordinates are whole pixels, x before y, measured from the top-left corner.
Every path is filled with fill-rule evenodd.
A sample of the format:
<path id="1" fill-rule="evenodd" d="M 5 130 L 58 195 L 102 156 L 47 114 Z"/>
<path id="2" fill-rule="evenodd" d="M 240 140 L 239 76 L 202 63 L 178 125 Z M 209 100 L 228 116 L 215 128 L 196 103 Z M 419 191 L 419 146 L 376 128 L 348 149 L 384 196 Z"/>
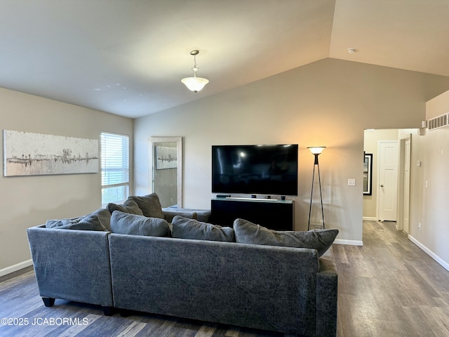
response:
<path id="1" fill-rule="evenodd" d="M 340 230 L 337 242 L 361 244 L 363 130 L 417 128 L 425 102 L 448 88 L 448 77 L 326 59 L 136 119 L 135 193 L 151 191 L 150 136 L 184 137 L 184 206 L 203 209 L 214 197 L 211 145 L 298 143 L 295 229 L 306 230 L 314 159 L 306 147 L 323 145 L 326 223 Z"/>

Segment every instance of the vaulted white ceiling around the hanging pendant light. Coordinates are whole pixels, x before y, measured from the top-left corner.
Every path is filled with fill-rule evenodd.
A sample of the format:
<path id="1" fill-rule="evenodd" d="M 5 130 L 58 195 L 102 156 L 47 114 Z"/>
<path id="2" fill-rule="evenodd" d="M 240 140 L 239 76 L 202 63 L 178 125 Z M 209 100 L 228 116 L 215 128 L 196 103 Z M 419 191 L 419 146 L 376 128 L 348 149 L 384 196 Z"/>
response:
<path id="1" fill-rule="evenodd" d="M 328 57 L 449 76 L 448 56 L 449 0 L 0 0 L 1 87 L 132 118 Z"/>

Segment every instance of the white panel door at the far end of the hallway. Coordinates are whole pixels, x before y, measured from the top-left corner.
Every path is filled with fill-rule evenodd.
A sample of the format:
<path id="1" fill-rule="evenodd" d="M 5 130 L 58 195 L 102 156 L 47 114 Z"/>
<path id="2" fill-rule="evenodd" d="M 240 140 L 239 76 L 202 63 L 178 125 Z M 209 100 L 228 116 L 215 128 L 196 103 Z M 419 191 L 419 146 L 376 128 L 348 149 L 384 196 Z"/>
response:
<path id="1" fill-rule="evenodd" d="M 378 143 L 379 220 L 396 221 L 398 207 L 398 142 L 380 140 Z"/>

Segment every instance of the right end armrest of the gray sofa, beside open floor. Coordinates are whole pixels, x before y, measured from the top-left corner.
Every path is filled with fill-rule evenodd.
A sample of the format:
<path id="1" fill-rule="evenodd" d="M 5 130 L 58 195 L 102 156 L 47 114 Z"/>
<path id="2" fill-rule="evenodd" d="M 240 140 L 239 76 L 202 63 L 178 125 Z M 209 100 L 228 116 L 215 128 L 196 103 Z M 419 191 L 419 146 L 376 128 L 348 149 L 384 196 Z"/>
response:
<path id="1" fill-rule="evenodd" d="M 331 254 L 319 259 L 316 273 L 316 336 L 337 336 L 338 275 Z"/>

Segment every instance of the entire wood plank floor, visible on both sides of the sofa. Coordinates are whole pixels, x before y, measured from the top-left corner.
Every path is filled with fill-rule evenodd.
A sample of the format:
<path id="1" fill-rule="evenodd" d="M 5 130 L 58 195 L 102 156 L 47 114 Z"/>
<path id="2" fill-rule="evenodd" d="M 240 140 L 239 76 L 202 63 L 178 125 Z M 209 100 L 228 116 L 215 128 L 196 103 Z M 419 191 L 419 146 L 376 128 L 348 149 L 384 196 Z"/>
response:
<path id="1" fill-rule="evenodd" d="M 449 272 L 397 232 L 394 223 L 364 222 L 363 244 L 333 245 L 339 274 L 337 336 L 449 336 Z M 30 324 L 0 324 L 2 337 L 282 336 L 141 312 L 106 317 L 98 306 L 58 299 L 46 308 L 32 270 L 0 278 L 0 319 L 4 317 L 29 319 Z M 35 317 L 79 319 L 79 324 L 32 326 Z"/>

